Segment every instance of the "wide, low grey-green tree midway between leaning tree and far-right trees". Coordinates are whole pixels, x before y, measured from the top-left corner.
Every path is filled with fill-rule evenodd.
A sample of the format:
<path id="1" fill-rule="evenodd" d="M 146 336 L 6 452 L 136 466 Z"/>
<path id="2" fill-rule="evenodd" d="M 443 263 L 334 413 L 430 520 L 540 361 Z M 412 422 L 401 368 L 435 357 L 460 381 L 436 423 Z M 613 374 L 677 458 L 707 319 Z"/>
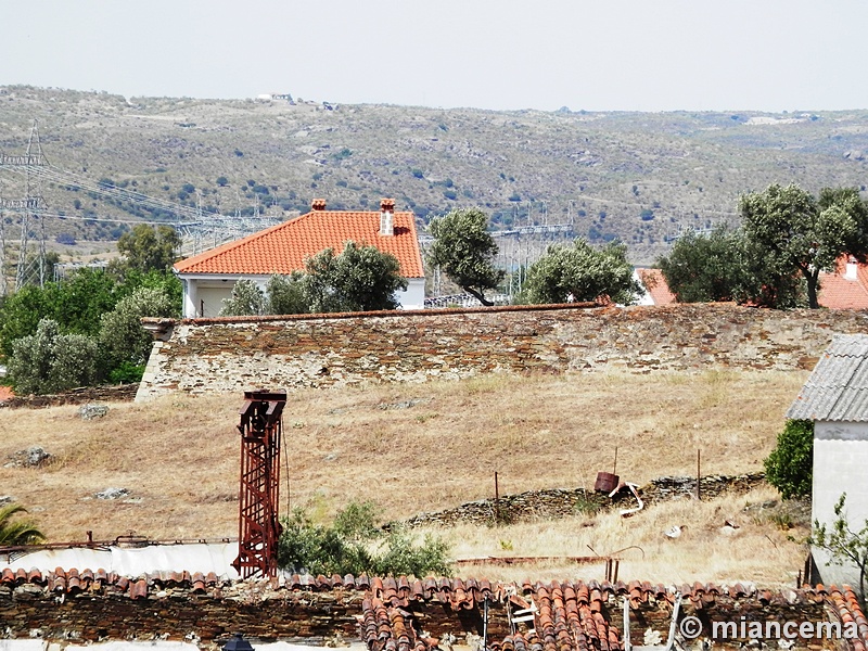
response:
<path id="1" fill-rule="evenodd" d="M 610 242 L 602 248 L 578 238 L 572 246 L 553 245 L 527 271 L 523 288 L 528 303 L 597 301 L 630 304 L 641 294 L 627 261 L 627 247 Z"/>

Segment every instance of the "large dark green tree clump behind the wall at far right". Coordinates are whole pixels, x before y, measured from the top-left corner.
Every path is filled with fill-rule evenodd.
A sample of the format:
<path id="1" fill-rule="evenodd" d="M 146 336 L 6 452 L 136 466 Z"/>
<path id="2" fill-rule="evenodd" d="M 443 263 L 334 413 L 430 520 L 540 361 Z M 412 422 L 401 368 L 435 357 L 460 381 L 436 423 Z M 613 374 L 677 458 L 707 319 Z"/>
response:
<path id="1" fill-rule="evenodd" d="M 826 188 L 815 199 L 797 186 L 769 186 L 741 197 L 742 226 L 687 233 L 658 259 L 685 303 L 737 301 L 819 307 L 819 273 L 843 254 L 868 256 L 868 206 L 853 188 Z"/>

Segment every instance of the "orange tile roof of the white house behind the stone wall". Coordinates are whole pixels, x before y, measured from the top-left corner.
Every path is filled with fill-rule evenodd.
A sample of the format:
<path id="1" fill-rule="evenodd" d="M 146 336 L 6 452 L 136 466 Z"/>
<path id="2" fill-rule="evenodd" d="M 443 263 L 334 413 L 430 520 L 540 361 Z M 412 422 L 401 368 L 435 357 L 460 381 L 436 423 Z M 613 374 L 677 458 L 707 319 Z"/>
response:
<path id="1" fill-rule="evenodd" d="M 394 255 L 405 278 L 424 278 L 411 212 L 393 213 L 395 234 L 381 235 L 380 210 L 317 209 L 320 206 L 324 201 L 315 202 L 315 209 L 301 217 L 180 260 L 175 270 L 183 275 L 289 275 L 304 270 L 305 260 L 323 248 L 340 254 L 352 240 Z"/>

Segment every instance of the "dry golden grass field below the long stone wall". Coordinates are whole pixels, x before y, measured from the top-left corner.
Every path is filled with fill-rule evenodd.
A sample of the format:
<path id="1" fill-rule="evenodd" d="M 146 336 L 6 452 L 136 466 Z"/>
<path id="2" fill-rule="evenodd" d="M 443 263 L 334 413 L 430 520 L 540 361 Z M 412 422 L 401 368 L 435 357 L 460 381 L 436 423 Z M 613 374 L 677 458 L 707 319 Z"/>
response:
<path id="1" fill-rule="evenodd" d="M 284 411 L 281 508 L 304 506 L 326 519 L 370 499 L 386 519 L 503 494 L 592 487 L 600 470 L 639 484 L 703 472 L 756 471 L 774 446 L 803 373 L 622 373 L 487 376 L 290 395 Z M 174 396 L 114 404 L 84 421 L 76 407 L 0 410 L 0 458 L 30 446 L 52 455 L 41 468 L 0 468 L 0 494 L 25 505 L 51 541 L 130 531 L 154 539 L 237 534 L 240 395 Z M 130 490 L 102 500 L 106 487 Z M 557 522 L 439 531 L 457 558 L 618 554 L 622 576 L 651 580 L 790 582 L 803 550 L 746 496 L 661 503 L 630 519 L 616 513 Z M 726 520 L 739 528 L 722 533 Z M 687 524 L 678 540 L 662 532 Z M 476 567 L 519 578 L 529 569 Z M 580 572 L 602 573 L 602 566 Z M 537 567 L 535 575 L 579 572 Z M 462 570 L 462 573 L 468 573 Z"/>

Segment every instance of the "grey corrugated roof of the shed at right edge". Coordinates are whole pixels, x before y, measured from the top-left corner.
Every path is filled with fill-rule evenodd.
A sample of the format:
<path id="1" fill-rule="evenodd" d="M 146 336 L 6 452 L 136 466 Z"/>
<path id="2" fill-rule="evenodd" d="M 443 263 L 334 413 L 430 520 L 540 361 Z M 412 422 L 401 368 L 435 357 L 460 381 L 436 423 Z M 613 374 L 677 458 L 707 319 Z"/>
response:
<path id="1" fill-rule="evenodd" d="M 837 334 L 787 418 L 868 422 L 868 335 Z"/>

